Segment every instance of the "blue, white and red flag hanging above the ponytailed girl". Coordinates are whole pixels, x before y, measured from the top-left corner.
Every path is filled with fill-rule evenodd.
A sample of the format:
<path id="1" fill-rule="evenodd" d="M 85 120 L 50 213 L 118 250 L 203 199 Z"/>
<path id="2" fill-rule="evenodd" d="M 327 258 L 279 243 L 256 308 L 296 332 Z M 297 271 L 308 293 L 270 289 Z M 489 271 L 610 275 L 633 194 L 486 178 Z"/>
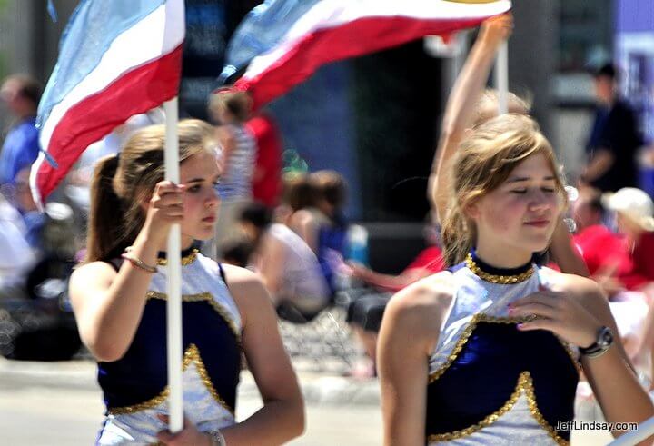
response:
<path id="1" fill-rule="evenodd" d="M 177 95 L 183 0 L 83 0 L 38 108 L 30 183 L 42 204 L 89 144 Z"/>

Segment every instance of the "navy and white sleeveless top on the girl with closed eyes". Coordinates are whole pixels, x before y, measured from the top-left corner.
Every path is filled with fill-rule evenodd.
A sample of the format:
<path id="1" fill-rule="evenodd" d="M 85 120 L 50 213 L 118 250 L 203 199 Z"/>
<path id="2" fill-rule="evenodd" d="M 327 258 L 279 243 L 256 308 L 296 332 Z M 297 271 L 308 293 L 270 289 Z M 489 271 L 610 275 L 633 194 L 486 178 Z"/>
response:
<path id="1" fill-rule="evenodd" d="M 474 260 L 451 269 L 456 292 L 429 361 L 427 444 L 568 444 L 558 423 L 574 419 L 579 352 L 552 332 L 520 332 L 529 319 L 507 308 L 553 272 L 484 273 Z"/>

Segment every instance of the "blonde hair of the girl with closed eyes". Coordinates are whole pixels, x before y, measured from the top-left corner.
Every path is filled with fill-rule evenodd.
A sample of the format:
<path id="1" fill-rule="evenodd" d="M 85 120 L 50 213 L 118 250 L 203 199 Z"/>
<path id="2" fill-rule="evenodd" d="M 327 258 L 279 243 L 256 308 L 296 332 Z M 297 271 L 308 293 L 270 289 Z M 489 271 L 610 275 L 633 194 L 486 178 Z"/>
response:
<path id="1" fill-rule="evenodd" d="M 502 114 L 475 127 L 461 142 L 451 165 L 452 186 L 448 212 L 442 223 L 443 257 L 460 263 L 476 243 L 474 223 L 464 212 L 472 203 L 500 187 L 513 169 L 534 154 L 544 154 L 554 173 L 562 206 L 568 197 L 560 165 L 539 126 L 523 114 Z"/>

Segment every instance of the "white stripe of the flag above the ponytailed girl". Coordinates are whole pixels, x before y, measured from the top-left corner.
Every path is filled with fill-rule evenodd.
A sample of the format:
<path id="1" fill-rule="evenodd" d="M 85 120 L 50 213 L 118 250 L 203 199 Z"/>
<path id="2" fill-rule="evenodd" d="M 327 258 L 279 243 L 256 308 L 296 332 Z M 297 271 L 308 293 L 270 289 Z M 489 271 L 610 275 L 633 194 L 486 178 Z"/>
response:
<path id="1" fill-rule="evenodd" d="M 116 37 L 94 71 L 53 107 L 41 129 L 41 147 L 47 150 L 56 125 L 74 104 L 101 92 L 127 71 L 166 55 L 180 45 L 184 35 L 183 20 L 182 2 L 169 1 Z"/>

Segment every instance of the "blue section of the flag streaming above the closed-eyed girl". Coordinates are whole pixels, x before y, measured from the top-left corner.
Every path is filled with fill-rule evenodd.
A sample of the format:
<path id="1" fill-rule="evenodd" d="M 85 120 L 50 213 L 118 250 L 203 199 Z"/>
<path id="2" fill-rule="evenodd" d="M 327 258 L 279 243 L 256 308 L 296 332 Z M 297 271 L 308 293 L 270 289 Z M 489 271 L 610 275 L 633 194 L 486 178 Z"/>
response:
<path id="1" fill-rule="evenodd" d="M 277 45 L 291 26 L 322 0 L 266 0 L 243 18 L 227 45 L 220 84 L 243 70 L 257 55 Z"/>

